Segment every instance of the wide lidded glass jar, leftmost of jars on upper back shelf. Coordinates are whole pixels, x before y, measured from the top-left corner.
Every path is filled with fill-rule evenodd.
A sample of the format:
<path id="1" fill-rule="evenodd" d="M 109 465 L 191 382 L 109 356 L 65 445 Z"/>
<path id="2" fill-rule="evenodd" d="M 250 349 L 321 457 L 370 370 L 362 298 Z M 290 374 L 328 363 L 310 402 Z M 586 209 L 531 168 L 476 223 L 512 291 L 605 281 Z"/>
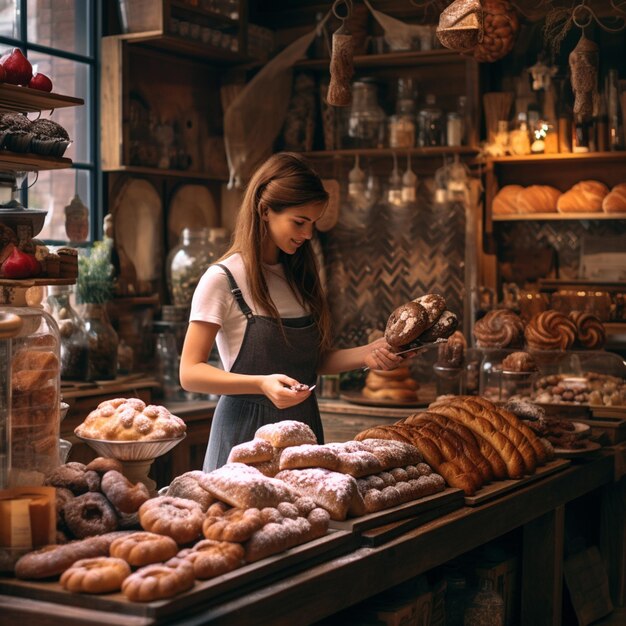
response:
<path id="1" fill-rule="evenodd" d="M 384 145 L 385 112 L 378 105 L 378 86 L 367 79 L 352 85 L 348 136 L 355 148 L 382 148 Z"/>

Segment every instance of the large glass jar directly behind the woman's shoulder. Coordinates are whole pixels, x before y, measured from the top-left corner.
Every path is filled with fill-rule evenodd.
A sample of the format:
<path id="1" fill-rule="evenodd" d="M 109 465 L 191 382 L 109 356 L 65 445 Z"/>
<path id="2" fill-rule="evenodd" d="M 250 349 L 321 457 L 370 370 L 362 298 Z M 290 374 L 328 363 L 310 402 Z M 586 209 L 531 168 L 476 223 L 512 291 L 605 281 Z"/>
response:
<path id="1" fill-rule="evenodd" d="M 208 229 L 184 228 L 181 242 L 167 255 L 167 286 L 172 304 L 191 306 L 193 292 L 208 266 Z"/>

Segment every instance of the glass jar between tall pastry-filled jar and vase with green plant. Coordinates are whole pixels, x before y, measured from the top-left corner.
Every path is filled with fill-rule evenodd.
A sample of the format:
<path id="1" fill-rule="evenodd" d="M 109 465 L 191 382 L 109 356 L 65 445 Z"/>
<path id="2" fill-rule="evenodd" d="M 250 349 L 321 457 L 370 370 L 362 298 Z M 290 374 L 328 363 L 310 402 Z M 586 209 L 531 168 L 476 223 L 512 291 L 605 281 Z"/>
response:
<path id="1" fill-rule="evenodd" d="M 70 303 L 72 290 L 66 285 L 49 287 L 46 309 L 59 326 L 61 378 L 86 380 L 89 343 L 85 325 Z"/>

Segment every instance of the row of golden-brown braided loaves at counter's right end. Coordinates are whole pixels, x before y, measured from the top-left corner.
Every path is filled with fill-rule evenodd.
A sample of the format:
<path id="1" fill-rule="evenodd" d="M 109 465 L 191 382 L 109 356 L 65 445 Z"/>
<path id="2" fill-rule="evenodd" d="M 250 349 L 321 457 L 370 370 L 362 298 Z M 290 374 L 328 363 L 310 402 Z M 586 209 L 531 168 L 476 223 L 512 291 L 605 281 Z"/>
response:
<path id="1" fill-rule="evenodd" d="M 442 396 L 426 411 L 356 439 L 371 437 L 414 445 L 448 485 L 468 496 L 494 480 L 533 474 L 553 457 L 551 446 L 516 415 L 476 396 Z"/>

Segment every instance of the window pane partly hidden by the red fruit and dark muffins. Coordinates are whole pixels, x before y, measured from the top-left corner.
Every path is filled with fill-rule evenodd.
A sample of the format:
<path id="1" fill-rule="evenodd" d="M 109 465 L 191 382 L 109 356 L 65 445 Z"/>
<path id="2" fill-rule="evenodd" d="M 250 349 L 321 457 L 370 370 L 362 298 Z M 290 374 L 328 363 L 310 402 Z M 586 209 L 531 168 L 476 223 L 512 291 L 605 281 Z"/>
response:
<path id="1" fill-rule="evenodd" d="M 50 119 L 61 124 L 68 132 L 72 143 L 63 156 L 80 163 L 90 163 L 90 67 L 86 63 L 77 63 L 32 51 L 28 53 L 28 60 L 33 65 L 33 71 L 43 72 L 50 77 L 53 85 L 52 91 L 85 100 L 85 106 L 56 109 L 52 115 L 49 111 L 44 111 L 42 116 L 50 116 Z M 30 115 L 30 117 L 32 119 L 35 116 Z"/>

